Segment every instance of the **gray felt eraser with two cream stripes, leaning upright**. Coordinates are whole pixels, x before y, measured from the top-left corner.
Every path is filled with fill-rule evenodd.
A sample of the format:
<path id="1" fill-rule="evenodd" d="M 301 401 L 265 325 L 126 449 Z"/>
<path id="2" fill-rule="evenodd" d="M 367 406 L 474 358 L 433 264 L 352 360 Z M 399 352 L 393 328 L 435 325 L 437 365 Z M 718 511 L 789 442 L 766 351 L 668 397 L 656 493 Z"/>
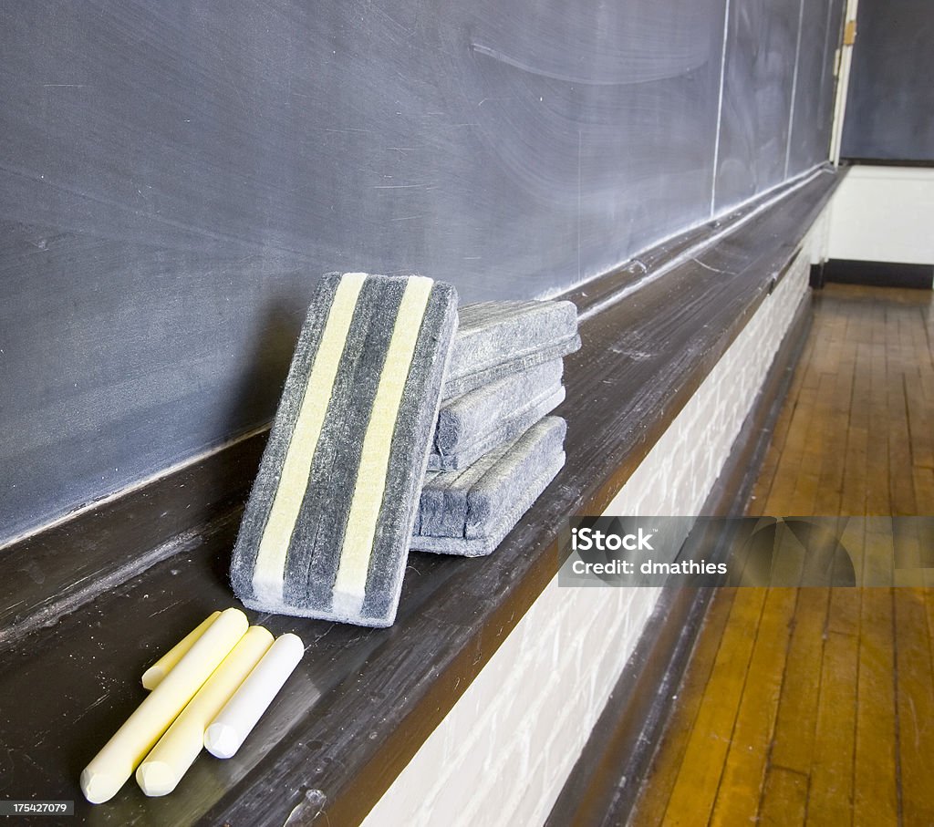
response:
<path id="1" fill-rule="evenodd" d="M 324 276 L 233 549 L 244 605 L 392 623 L 456 327 L 449 285 Z"/>

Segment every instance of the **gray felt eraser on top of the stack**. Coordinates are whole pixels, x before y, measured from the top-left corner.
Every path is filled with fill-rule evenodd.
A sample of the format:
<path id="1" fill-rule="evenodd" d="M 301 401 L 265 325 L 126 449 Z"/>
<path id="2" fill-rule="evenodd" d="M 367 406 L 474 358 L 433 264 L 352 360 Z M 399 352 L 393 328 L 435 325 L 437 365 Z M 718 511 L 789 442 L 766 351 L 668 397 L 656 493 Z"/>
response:
<path id="1" fill-rule="evenodd" d="M 580 347 L 570 301 L 481 301 L 460 308 L 444 399 Z"/>

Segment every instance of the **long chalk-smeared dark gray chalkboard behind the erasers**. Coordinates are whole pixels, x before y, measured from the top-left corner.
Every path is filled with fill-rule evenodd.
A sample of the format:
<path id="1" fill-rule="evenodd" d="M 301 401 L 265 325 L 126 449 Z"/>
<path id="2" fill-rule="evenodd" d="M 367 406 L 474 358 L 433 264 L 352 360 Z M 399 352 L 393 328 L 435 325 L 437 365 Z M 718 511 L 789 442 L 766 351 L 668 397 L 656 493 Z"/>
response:
<path id="1" fill-rule="evenodd" d="M 835 12 L 727 7 L 0 5 L 0 542 L 268 421 L 319 273 L 554 295 L 821 161 Z"/>

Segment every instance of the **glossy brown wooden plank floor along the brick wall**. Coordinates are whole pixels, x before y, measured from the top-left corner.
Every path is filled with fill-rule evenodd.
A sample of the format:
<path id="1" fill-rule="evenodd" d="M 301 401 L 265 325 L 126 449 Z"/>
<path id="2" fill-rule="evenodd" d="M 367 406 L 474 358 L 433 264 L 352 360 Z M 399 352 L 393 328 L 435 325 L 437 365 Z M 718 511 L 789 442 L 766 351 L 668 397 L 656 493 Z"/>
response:
<path id="1" fill-rule="evenodd" d="M 927 291 L 828 286 L 751 514 L 934 514 Z M 934 590 L 721 589 L 630 824 L 934 825 Z"/>

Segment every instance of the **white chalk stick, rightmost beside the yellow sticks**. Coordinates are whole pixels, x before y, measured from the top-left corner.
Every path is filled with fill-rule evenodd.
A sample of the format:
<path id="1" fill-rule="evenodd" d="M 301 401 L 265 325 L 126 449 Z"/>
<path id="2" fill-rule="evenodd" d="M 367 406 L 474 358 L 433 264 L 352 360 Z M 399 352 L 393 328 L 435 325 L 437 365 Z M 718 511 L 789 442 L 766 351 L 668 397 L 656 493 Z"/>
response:
<path id="1" fill-rule="evenodd" d="M 252 732 L 304 655 L 297 635 L 276 638 L 262 661 L 249 673 L 233 697 L 207 727 L 205 748 L 217 758 L 231 758 Z"/>

